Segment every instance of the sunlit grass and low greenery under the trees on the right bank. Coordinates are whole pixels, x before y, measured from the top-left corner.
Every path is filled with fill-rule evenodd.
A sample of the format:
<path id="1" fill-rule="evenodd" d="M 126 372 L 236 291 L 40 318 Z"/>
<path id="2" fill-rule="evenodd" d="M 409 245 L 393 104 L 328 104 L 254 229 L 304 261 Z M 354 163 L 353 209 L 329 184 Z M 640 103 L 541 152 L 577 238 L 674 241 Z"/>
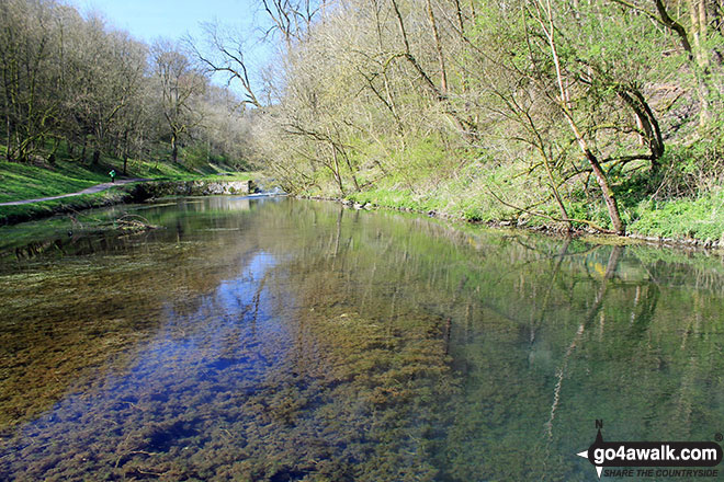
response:
<path id="1" fill-rule="evenodd" d="M 364 147 L 359 148 L 364 151 Z M 435 214 L 471 222 L 552 231 L 565 230 L 548 180 L 529 175 L 530 165 L 514 160 L 496 162 L 470 152 L 445 156 L 439 146 L 425 142 L 385 169 L 367 164 L 357 173 L 358 191 L 346 182 L 344 195 L 328 172 L 318 171 L 310 186 L 298 194 L 346 198 L 359 204 Z M 609 173 L 626 233 L 677 243 L 724 245 L 724 187 L 715 169 L 717 158 L 671 149 L 660 171 L 652 175 L 646 162 L 632 162 Z M 367 152 L 381 159 L 380 152 Z M 710 159 L 702 159 L 710 157 Z M 362 162 L 360 165 L 364 165 Z M 702 167 L 692 170 L 692 165 Z M 714 173 L 714 174 L 712 174 Z M 558 186 L 573 226 L 579 231 L 610 229 L 600 190 L 593 181 Z"/>

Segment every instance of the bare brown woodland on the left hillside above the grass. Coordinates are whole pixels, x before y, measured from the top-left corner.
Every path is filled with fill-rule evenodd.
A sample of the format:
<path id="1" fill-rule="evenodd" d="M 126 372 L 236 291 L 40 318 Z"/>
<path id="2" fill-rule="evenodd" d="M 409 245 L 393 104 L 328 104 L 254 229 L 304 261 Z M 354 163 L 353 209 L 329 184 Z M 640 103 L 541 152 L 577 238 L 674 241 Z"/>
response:
<path id="1" fill-rule="evenodd" d="M 245 111 L 181 43 L 146 45 L 55 0 L 0 2 L 0 145 L 15 162 L 57 156 L 246 157 Z"/>

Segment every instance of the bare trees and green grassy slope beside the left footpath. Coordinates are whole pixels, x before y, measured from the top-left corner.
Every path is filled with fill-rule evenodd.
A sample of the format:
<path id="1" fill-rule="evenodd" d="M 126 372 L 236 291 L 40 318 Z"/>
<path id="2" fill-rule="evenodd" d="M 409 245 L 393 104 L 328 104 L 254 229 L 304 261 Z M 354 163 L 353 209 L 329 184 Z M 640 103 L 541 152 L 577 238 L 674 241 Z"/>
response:
<path id="1" fill-rule="evenodd" d="M 0 203 L 121 177 L 249 180 L 248 115 L 179 43 L 147 45 L 53 0 L 0 3 Z M 234 174 L 233 177 L 226 175 Z M 123 188 L 0 207 L 0 223 L 121 202 Z"/>

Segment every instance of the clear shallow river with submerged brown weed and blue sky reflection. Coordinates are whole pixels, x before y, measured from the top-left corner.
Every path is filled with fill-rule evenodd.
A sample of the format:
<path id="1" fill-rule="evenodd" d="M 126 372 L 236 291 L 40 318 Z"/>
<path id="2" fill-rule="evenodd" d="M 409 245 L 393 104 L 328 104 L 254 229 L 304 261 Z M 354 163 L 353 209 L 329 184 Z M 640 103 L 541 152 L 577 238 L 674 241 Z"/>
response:
<path id="1" fill-rule="evenodd" d="M 2 228 L 0 300 L 3 481 L 584 481 L 597 420 L 724 432 L 706 253 L 185 198 Z"/>

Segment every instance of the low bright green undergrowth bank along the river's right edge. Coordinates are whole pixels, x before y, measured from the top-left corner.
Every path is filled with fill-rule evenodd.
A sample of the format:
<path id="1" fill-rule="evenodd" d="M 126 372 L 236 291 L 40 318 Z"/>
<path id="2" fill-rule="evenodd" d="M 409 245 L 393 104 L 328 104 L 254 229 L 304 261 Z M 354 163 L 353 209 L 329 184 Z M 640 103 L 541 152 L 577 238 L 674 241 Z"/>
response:
<path id="1" fill-rule="evenodd" d="M 296 195 L 341 197 L 490 226 L 619 230 L 595 176 L 585 170 L 570 174 L 578 169 L 573 167 L 550 175 L 536 172 L 542 164 L 525 151 L 511 148 L 508 157 L 494 156 L 493 149 L 455 150 L 428 137 L 412 138 L 397 152 L 378 144 L 357 142 L 350 149 L 354 156 L 344 169 L 329 163 L 297 174 L 278 168 L 278 176 Z M 672 140 L 656 169 L 645 160 L 607 165 L 615 217 L 627 237 L 657 244 L 724 245 L 721 152 L 717 139 Z"/>

